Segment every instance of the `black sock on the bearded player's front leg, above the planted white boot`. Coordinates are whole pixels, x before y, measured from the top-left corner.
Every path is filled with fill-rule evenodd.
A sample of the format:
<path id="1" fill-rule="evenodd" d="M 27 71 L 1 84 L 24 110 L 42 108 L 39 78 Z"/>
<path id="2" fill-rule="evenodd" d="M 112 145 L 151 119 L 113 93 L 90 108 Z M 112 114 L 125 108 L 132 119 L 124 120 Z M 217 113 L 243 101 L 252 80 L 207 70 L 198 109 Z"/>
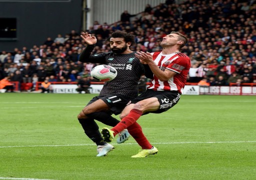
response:
<path id="1" fill-rule="evenodd" d="M 98 125 L 92 118 L 78 118 L 84 133 L 97 145 L 106 144 L 98 130 Z"/>

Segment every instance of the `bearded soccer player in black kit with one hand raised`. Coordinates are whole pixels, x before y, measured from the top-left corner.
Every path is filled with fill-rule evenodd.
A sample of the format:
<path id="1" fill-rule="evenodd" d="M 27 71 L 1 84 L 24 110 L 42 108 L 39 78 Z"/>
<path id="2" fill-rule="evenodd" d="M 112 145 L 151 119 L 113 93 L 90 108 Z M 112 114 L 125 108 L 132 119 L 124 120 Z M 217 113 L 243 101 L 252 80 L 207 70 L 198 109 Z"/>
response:
<path id="1" fill-rule="evenodd" d="M 144 73 L 144 67 L 135 57 L 135 52 L 129 48 L 135 43 L 134 35 L 130 33 L 119 30 L 113 32 L 108 38 L 111 52 L 95 55 L 91 55 L 91 52 L 97 41 L 96 37 L 87 32 L 82 32 L 80 36 L 87 44 L 79 56 L 80 62 L 107 64 L 117 70 L 117 76 L 105 82 L 99 95 L 93 97 L 77 115 L 85 134 L 97 145 L 96 156 L 104 156 L 114 147 L 102 138 L 94 119 L 109 126 L 115 126 L 119 122 L 111 114 L 119 114 L 128 101 L 138 95 L 137 84 L 141 74 Z M 132 136 L 134 133 L 129 129 L 128 131 L 129 133 L 127 130 L 120 132 L 122 137 L 126 136 L 126 138 L 118 138 L 118 143 L 125 141 L 129 134 Z"/>

